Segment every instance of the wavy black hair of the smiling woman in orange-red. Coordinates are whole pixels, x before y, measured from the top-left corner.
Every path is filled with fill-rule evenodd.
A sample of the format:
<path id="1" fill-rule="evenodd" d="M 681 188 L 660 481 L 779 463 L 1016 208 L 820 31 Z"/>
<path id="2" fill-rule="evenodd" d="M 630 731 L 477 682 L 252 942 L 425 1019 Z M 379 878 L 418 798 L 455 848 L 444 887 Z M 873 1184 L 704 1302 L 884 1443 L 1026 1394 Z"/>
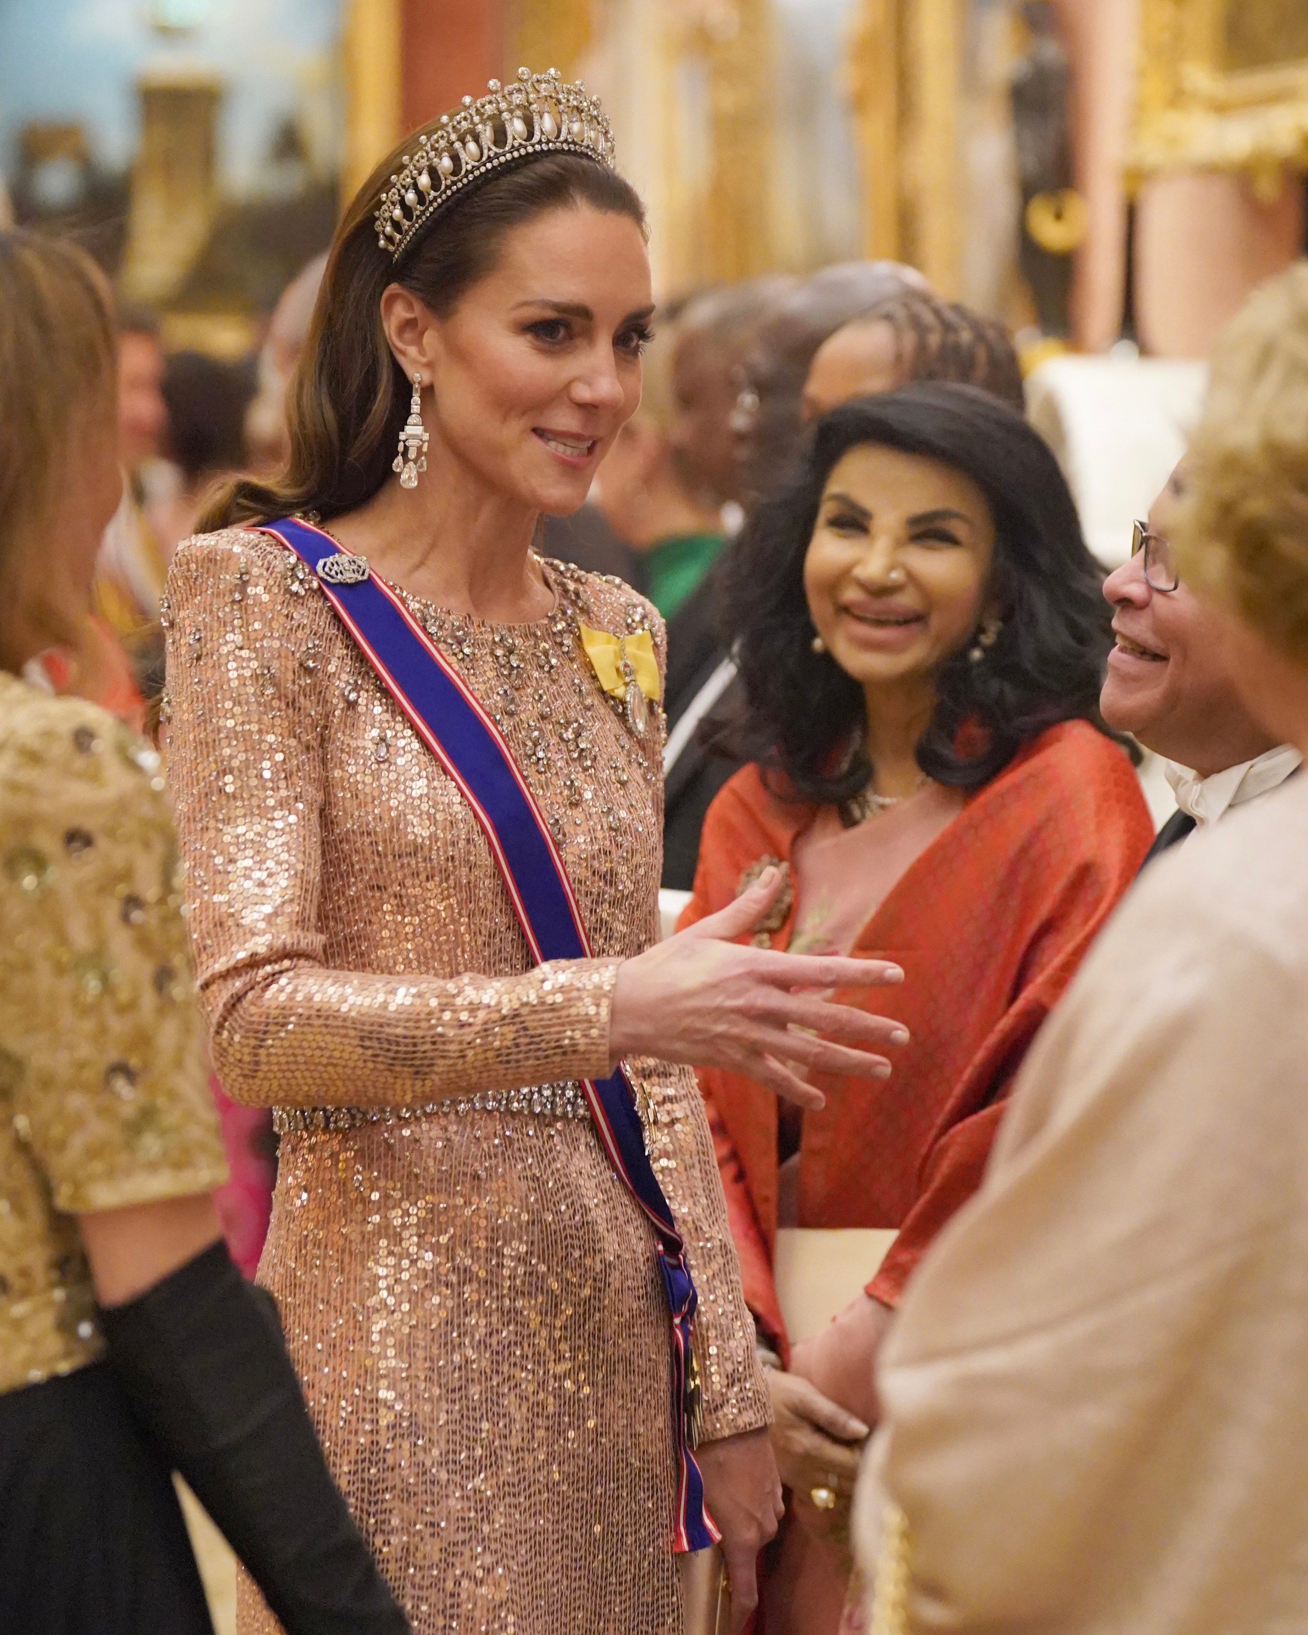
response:
<path id="1" fill-rule="evenodd" d="M 1104 571 L 1086 548 L 1058 461 L 997 397 L 932 381 L 824 415 L 790 482 L 757 507 L 732 548 L 724 634 L 746 692 L 731 728 L 734 752 L 757 762 L 786 798 L 835 803 L 871 778 L 863 690 L 829 654 L 813 651 L 803 579 L 827 477 L 863 443 L 963 473 L 994 520 L 988 600 L 1002 629 L 983 662 L 970 661 L 968 641 L 937 672 L 935 713 L 917 746 L 922 772 L 937 783 L 978 788 L 1055 721 L 1089 721 L 1125 746 L 1099 713 L 1112 646 Z"/>

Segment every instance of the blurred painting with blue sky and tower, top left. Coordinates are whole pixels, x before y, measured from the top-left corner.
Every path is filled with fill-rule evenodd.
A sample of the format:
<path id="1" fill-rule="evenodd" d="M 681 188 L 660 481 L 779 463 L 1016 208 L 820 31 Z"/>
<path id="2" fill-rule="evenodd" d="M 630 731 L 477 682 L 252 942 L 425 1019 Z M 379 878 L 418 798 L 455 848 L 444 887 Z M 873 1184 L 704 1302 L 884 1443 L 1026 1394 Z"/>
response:
<path id="1" fill-rule="evenodd" d="M 0 175 L 74 231 L 173 343 L 244 352 L 330 239 L 337 0 L 10 0 Z"/>

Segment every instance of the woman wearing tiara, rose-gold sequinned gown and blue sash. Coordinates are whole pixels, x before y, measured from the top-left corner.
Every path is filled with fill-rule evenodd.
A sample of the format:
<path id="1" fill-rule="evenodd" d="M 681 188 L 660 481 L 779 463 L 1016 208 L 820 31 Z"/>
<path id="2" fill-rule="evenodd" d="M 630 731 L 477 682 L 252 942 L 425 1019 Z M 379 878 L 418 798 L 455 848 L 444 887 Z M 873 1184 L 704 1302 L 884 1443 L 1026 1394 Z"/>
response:
<path id="1" fill-rule="evenodd" d="M 260 1275 L 419 1632 L 674 1635 L 700 1473 L 744 1622 L 780 1491 L 690 1064 L 808 1105 L 889 1073 L 891 1025 L 814 991 L 893 968 L 729 940 L 778 880 L 656 942 L 662 625 L 531 549 L 639 399 L 610 155 L 523 70 L 381 167 L 289 469 L 216 504 L 165 608 L 214 1058 L 281 1128 Z"/>

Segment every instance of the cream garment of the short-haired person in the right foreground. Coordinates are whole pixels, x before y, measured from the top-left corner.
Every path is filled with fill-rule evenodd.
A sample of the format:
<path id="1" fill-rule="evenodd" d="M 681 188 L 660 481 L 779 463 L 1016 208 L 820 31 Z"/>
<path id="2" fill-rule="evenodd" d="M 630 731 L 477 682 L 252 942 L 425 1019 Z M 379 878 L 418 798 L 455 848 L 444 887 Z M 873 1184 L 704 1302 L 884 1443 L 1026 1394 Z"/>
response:
<path id="1" fill-rule="evenodd" d="M 909 1628 L 1308 1628 L 1308 780 L 1131 891 L 878 1383 Z"/>

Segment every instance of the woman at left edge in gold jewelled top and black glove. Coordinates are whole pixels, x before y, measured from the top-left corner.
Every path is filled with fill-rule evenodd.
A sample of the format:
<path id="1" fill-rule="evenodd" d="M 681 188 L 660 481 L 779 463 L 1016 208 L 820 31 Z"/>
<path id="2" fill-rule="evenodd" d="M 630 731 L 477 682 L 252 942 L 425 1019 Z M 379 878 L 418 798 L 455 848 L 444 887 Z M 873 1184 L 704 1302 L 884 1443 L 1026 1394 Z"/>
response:
<path id="1" fill-rule="evenodd" d="M 222 1246 L 159 755 L 25 664 L 118 505 L 108 289 L 0 232 L 0 1627 L 206 1635 L 181 1472 L 286 1630 L 407 1628 Z"/>

